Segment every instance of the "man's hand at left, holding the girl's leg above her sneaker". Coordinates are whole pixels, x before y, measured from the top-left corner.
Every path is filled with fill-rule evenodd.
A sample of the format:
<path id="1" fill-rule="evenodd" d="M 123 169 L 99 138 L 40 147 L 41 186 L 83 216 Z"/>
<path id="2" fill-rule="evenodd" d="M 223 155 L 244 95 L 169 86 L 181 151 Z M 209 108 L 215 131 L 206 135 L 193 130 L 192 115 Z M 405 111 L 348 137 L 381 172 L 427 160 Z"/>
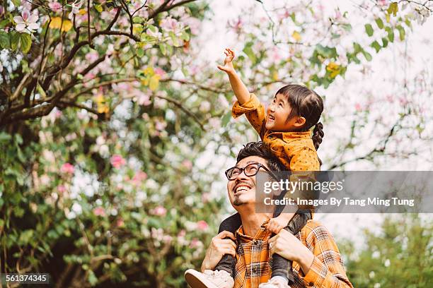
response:
<path id="1" fill-rule="evenodd" d="M 224 239 L 226 237 L 233 239 L 233 241 L 231 239 Z M 219 260 L 221 260 L 222 256 L 226 254 L 236 257 L 236 244 L 234 240 L 236 240 L 235 236 L 233 233 L 228 231 L 223 231 L 217 236 L 214 236 L 209 248 L 207 248 L 206 256 L 204 256 L 202 272 L 207 269 L 214 270 L 219 263 Z"/>

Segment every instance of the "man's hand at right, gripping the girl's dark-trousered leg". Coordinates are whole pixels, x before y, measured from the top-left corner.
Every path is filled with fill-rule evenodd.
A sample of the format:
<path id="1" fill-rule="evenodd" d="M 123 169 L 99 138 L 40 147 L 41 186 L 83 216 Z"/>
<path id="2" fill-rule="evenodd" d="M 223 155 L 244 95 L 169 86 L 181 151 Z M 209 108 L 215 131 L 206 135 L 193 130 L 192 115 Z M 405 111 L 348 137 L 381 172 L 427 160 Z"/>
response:
<path id="1" fill-rule="evenodd" d="M 282 229 L 277 235 L 268 240 L 270 252 L 277 253 L 287 260 L 299 263 L 304 274 L 308 273 L 313 264 L 313 253 L 304 246 L 296 236 Z"/>

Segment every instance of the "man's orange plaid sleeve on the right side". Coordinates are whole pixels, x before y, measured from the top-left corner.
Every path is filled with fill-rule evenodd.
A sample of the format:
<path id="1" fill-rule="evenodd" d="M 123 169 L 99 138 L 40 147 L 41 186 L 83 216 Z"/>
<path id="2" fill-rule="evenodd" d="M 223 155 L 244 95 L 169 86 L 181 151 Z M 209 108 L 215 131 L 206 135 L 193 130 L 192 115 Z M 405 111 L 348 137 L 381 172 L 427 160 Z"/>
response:
<path id="1" fill-rule="evenodd" d="M 342 264 L 340 251 L 328 229 L 320 224 L 314 225 L 306 236 L 306 242 L 313 248 L 314 254 L 313 264 L 303 278 L 307 287 L 353 288 Z"/>

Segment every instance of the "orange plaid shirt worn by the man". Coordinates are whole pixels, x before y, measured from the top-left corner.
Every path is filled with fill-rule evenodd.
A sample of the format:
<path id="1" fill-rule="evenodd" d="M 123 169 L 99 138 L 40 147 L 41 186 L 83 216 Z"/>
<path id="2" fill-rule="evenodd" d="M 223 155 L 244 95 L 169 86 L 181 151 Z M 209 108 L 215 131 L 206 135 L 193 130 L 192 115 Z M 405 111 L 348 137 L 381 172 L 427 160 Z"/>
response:
<path id="1" fill-rule="evenodd" d="M 272 234 L 267 231 L 265 224 L 267 221 L 254 237 L 243 234 L 242 226 L 236 232 L 238 243 L 233 288 L 256 288 L 260 283 L 270 279 L 272 266 L 267 240 Z M 314 254 L 314 260 L 306 275 L 301 271 L 299 264 L 293 262 L 294 284 L 291 284 L 291 288 L 353 288 L 347 279 L 340 251 L 328 229 L 315 220 L 308 220 L 295 236 Z"/>

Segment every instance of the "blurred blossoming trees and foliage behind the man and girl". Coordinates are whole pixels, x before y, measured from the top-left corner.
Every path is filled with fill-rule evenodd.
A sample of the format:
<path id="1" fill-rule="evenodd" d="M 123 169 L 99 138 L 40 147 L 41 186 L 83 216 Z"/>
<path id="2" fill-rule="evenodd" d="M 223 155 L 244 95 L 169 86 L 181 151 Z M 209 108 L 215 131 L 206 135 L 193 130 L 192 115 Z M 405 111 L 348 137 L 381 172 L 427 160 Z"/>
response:
<path id="1" fill-rule="evenodd" d="M 0 0 L 0 272 L 48 272 L 54 287 L 185 287 L 228 212 L 226 161 L 257 140 L 231 120 L 204 23 L 236 39 L 236 68 L 264 100 L 288 82 L 325 97 L 323 169 L 432 159 L 432 71 L 390 78 L 395 90 L 366 80 L 379 54 L 422 56 L 393 47 L 429 23 L 431 1 L 330 13 L 250 0 L 228 23 L 212 22 L 211 2 Z M 335 92 L 350 85 L 363 90 Z M 355 287 L 428 287 L 432 222 L 394 216 L 362 248 L 339 242 Z"/>

